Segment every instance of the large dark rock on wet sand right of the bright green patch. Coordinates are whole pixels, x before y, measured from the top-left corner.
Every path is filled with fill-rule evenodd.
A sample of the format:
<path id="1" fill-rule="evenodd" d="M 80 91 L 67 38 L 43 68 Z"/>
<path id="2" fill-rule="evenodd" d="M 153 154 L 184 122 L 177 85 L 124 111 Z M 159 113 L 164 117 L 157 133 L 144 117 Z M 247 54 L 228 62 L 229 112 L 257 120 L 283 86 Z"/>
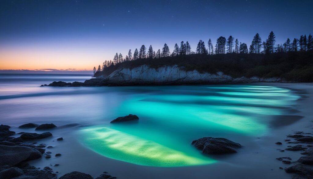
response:
<path id="1" fill-rule="evenodd" d="M 230 154 L 236 153 L 235 148 L 240 148 L 241 145 L 225 138 L 203 137 L 192 141 L 197 149 L 202 150 L 204 154 Z"/>

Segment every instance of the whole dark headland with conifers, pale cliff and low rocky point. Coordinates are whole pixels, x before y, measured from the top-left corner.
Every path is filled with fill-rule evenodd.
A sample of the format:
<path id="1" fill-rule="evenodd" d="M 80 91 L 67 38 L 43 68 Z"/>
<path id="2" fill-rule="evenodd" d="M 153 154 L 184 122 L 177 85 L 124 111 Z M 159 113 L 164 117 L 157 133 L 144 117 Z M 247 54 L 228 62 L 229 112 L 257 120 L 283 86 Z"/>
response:
<path id="1" fill-rule="evenodd" d="M 167 44 L 156 52 L 145 45 L 128 55 L 116 53 L 113 61 L 94 67 L 94 77 L 85 82 L 53 82 L 48 86 L 132 86 L 221 84 L 246 82 L 313 82 L 313 38 L 301 35 L 275 45 L 270 32 L 262 42 L 256 34 L 249 47 L 232 36 L 219 37 L 215 48 L 200 40 L 193 52 L 188 43 Z"/>

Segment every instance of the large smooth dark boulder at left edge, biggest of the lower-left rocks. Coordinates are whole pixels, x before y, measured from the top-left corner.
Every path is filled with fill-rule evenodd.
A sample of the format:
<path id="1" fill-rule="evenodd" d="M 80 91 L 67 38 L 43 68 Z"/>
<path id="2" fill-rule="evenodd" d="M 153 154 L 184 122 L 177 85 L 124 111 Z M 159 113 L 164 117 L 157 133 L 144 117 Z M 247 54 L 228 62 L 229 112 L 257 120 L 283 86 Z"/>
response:
<path id="1" fill-rule="evenodd" d="M 35 160 L 40 157 L 41 153 L 30 147 L 0 145 L 0 166 L 15 166 L 23 161 Z"/>

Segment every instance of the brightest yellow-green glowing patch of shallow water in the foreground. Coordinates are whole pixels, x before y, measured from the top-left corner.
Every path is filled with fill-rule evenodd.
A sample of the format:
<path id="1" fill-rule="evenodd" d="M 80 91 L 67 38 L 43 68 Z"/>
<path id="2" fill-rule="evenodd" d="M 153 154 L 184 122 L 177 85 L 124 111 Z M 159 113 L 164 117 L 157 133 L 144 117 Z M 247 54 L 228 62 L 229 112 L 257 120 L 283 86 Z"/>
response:
<path id="1" fill-rule="evenodd" d="M 188 154 L 108 127 L 83 129 L 84 144 L 106 157 L 144 166 L 193 166 L 214 163 L 192 146 Z"/>

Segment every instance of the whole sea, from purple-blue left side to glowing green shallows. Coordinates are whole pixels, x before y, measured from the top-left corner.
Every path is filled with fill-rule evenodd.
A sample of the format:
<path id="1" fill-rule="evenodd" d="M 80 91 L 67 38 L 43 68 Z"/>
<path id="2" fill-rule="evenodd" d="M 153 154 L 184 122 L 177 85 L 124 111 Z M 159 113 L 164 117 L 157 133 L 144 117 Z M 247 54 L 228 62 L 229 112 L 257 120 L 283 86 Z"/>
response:
<path id="1" fill-rule="evenodd" d="M 78 128 L 76 140 L 105 157 L 144 166 L 194 166 L 218 160 L 202 155 L 192 140 L 210 136 L 241 143 L 267 134 L 280 127 L 273 120 L 289 114 L 299 99 L 289 89 L 258 85 L 39 87 L 89 77 L 0 75 L 1 122 L 87 124 Z M 128 114 L 139 121 L 110 124 Z"/>

